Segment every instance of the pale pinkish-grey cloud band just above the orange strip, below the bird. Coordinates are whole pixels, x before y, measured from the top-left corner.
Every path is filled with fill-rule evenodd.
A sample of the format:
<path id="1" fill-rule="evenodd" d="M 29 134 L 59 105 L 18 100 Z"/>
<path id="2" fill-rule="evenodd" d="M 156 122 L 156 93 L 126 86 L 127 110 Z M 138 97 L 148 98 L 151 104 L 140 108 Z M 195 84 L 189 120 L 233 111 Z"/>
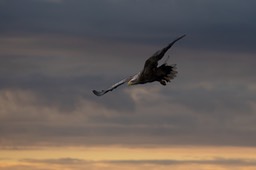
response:
<path id="1" fill-rule="evenodd" d="M 255 126 L 249 121 L 255 120 L 254 115 L 204 114 L 184 109 L 184 102 L 175 104 L 164 96 L 161 104 L 156 103 L 159 98 L 150 101 L 145 94 L 141 97 L 148 98 L 147 102 L 135 101 L 133 111 L 120 111 L 117 106 L 108 108 L 108 102 L 83 98 L 76 99 L 68 109 L 57 100 L 41 102 L 33 91 L 2 91 L 2 145 L 255 144 L 252 135 Z M 243 119 L 237 121 L 238 116 Z"/>

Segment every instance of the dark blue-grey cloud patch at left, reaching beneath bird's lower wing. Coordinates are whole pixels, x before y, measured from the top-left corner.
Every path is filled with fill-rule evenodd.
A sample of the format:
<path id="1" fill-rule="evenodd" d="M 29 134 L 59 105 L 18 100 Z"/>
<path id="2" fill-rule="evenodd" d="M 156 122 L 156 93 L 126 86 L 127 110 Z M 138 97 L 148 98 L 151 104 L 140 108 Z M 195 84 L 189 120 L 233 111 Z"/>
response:
<path id="1" fill-rule="evenodd" d="M 3 91 L 5 89 L 32 91 L 38 96 L 39 104 L 43 106 L 57 105 L 60 109 L 72 111 L 75 109 L 77 102 L 82 98 L 84 100 L 90 99 L 104 105 L 106 108 L 119 111 L 132 111 L 135 107 L 132 99 L 122 89 L 119 89 L 115 94 L 115 98 L 118 98 L 118 100 L 113 100 L 113 94 L 106 96 L 104 99 L 93 96 L 93 89 L 110 86 L 95 84 L 98 83 L 98 80 L 103 80 L 104 82 L 104 79 L 101 77 L 78 76 L 56 78 L 35 74 L 21 77 L 4 77 L 2 80 L 1 89 Z"/>

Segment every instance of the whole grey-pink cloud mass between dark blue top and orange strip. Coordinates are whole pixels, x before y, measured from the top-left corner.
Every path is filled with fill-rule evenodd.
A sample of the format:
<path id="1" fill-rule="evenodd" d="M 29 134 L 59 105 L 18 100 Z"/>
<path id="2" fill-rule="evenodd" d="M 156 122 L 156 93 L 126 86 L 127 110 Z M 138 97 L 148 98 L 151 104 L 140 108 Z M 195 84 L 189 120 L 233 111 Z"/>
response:
<path id="1" fill-rule="evenodd" d="M 112 65 L 124 68 L 111 75 L 106 68 L 77 71 L 84 65 L 80 57 L 3 57 L 4 145 L 254 146 L 251 55 L 229 60 L 226 53 L 204 59 L 206 52 L 191 58 L 190 51 L 172 52 L 179 74 L 168 86 L 120 87 L 102 98 L 91 90 L 123 78 L 121 71 L 133 70 L 131 65 L 116 61 Z"/>

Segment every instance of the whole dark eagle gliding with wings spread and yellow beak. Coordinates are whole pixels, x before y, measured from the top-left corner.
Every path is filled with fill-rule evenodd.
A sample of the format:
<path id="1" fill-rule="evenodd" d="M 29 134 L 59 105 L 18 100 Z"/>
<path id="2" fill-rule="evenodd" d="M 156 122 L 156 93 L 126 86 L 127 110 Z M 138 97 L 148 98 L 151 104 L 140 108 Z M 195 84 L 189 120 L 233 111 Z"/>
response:
<path id="1" fill-rule="evenodd" d="M 155 52 L 151 57 L 149 57 L 144 64 L 144 68 L 139 73 L 135 74 L 134 76 L 130 76 L 128 78 L 125 78 L 118 83 L 112 85 L 110 88 L 106 90 L 93 90 L 93 93 L 96 96 L 102 96 L 115 88 L 127 83 L 129 86 L 136 85 L 136 84 L 145 84 L 145 83 L 151 83 L 154 81 L 160 82 L 163 86 L 166 85 L 167 82 L 170 82 L 174 77 L 176 77 L 176 74 L 178 73 L 176 71 L 176 64 L 173 65 L 167 65 L 167 60 L 158 67 L 158 61 L 163 58 L 165 53 L 175 44 L 177 41 L 185 37 L 186 35 L 182 35 L 178 38 L 176 38 L 174 41 L 172 41 L 170 44 L 168 44 L 166 47 L 164 47 L 161 50 L 158 50 Z"/>

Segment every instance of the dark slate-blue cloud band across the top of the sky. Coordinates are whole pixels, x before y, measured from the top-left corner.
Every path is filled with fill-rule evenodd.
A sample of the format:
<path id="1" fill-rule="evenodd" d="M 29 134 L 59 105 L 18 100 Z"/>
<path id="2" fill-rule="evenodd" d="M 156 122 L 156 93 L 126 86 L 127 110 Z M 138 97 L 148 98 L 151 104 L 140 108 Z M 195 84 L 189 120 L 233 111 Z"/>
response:
<path id="1" fill-rule="evenodd" d="M 191 48 L 254 51 L 254 5 L 251 0 L 3 1 L 1 32 L 98 37 L 143 44 L 159 44 L 187 33 L 191 39 L 184 46 Z"/>

